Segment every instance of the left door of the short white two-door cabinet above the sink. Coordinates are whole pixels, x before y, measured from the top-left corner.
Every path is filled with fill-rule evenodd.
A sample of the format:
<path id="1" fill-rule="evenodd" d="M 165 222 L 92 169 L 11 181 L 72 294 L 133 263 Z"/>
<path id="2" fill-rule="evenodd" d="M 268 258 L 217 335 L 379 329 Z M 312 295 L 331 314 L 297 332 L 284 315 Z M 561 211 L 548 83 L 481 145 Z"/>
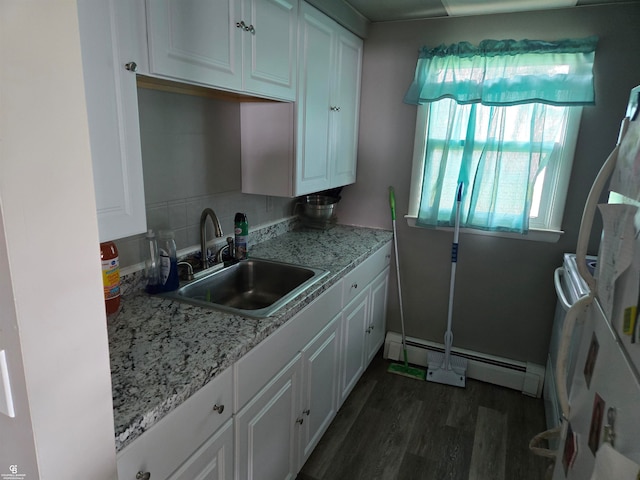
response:
<path id="1" fill-rule="evenodd" d="M 240 0 L 147 0 L 151 73 L 240 90 Z"/>

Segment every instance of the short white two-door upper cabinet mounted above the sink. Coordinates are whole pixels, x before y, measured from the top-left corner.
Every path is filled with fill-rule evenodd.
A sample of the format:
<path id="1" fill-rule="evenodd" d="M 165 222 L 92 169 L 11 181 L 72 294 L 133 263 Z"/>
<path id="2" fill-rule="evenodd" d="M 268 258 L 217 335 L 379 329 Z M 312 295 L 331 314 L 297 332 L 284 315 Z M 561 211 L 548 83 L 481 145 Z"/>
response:
<path id="1" fill-rule="evenodd" d="M 297 0 L 147 0 L 150 73 L 295 100 Z"/>

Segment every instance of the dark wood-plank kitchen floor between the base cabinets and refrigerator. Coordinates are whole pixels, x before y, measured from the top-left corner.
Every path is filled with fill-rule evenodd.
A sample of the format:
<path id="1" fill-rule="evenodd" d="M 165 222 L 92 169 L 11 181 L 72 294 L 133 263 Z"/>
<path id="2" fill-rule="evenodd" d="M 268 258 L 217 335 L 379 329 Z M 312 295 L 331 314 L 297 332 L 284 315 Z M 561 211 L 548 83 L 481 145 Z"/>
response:
<path id="1" fill-rule="evenodd" d="M 529 451 L 541 399 L 467 379 L 466 388 L 387 373 L 379 353 L 297 480 L 542 480 Z"/>

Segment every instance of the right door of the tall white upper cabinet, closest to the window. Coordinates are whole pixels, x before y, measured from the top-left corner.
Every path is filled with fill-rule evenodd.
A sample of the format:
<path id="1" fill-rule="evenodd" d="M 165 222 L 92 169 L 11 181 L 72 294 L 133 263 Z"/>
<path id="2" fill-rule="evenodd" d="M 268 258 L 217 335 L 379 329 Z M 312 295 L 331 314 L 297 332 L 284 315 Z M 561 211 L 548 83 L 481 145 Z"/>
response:
<path id="1" fill-rule="evenodd" d="M 362 70 L 362 40 L 339 28 L 335 89 L 331 99 L 332 187 L 356 181 Z"/>

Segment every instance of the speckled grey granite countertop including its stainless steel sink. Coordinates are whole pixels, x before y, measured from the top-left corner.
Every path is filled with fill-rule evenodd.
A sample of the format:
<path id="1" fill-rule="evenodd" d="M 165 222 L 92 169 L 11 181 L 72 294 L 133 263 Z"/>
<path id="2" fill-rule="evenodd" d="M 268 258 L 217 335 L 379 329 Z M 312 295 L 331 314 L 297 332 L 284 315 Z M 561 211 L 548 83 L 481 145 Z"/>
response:
<path id="1" fill-rule="evenodd" d="M 127 279 L 120 311 L 107 325 L 117 451 L 392 239 L 387 230 L 345 225 L 280 228 L 254 232 L 247 260 L 172 294 L 147 294 L 143 272 Z"/>

